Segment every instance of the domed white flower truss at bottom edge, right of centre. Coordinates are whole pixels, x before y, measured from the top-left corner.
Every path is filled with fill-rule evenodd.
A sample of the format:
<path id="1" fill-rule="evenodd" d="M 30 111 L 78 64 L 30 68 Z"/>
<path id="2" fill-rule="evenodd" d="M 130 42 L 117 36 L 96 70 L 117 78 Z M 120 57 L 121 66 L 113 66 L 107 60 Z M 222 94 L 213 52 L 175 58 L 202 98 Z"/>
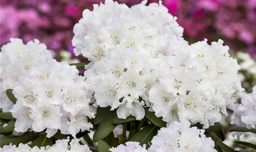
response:
<path id="1" fill-rule="evenodd" d="M 190 127 L 189 121 L 173 122 L 168 128 L 161 128 L 153 137 L 149 152 L 217 152 L 214 141 L 205 137 L 204 130 Z"/>

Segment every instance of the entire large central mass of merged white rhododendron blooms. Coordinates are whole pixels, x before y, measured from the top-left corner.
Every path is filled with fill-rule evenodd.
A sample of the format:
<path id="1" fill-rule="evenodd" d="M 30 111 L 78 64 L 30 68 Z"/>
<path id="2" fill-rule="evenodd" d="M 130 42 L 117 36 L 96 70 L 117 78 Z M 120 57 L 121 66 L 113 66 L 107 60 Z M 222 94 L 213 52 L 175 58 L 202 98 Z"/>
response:
<path id="1" fill-rule="evenodd" d="M 122 119 L 142 119 L 150 107 L 168 124 L 189 120 L 208 128 L 219 122 L 242 91 L 229 47 L 222 40 L 189 45 L 161 2 L 146 2 L 128 8 L 106 0 L 84 10 L 72 42 L 77 55 L 91 60 L 86 91 L 100 107 L 118 108 Z"/>

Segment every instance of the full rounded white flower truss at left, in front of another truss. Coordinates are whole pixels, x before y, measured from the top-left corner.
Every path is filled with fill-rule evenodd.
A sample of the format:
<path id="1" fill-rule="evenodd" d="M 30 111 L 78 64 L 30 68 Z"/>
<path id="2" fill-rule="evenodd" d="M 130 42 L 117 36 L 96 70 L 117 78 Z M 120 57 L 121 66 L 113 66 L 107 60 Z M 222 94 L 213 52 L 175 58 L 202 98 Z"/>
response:
<path id="1" fill-rule="evenodd" d="M 78 72 L 75 66 L 55 60 L 31 67 L 30 74 L 19 78 L 14 86 L 18 99 L 10 110 L 17 119 L 14 130 L 46 129 L 50 137 L 59 129 L 76 137 L 80 130 L 92 128 L 87 118 L 94 118 L 96 109 L 85 97 L 85 78 Z"/>

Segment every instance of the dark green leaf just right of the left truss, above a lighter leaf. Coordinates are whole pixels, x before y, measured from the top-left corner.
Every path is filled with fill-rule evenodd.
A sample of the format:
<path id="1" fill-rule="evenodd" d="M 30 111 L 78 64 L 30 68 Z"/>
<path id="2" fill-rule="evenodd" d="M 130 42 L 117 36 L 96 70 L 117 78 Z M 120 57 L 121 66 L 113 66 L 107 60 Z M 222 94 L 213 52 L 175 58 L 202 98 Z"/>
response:
<path id="1" fill-rule="evenodd" d="M 98 107 L 97 114 L 94 118 L 94 125 L 100 124 L 107 116 L 111 115 L 113 112 L 116 113 L 116 110 L 111 111 L 111 107 Z"/>

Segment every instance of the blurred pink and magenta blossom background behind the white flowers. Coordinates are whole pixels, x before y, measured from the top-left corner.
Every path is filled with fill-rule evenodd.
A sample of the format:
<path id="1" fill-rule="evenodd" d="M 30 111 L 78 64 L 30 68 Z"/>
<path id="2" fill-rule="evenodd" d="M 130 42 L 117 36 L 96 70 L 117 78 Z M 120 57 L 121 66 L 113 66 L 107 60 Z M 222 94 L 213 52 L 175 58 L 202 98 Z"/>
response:
<path id="1" fill-rule="evenodd" d="M 57 60 L 68 62 L 85 61 L 75 57 L 71 40 L 73 26 L 82 18 L 84 9 L 93 10 L 93 4 L 103 0 L 1 0 L 0 2 L 0 47 L 9 38 L 18 37 L 24 43 L 38 39 L 54 52 Z M 141 0 L 117 0 L 128 6 Z M 256 0 L 162 0 L 169 13 L 177 16 L 184 28 L 184 38 L 189 43 L 208 39 L 208 43 L 224 40 L 232 56 L 242 70 L 239 75 L 246 92 L 251 93 L 256 85 Z M 148 0 L 158 2 L 158 0 Z M 239 102 L 239 99 L 238 99 Z M 232 147 L 232 111 L 223 119 L 227 140 Z M 256 143 L 254 135 L 244 134 L 241 140 Z"/>

